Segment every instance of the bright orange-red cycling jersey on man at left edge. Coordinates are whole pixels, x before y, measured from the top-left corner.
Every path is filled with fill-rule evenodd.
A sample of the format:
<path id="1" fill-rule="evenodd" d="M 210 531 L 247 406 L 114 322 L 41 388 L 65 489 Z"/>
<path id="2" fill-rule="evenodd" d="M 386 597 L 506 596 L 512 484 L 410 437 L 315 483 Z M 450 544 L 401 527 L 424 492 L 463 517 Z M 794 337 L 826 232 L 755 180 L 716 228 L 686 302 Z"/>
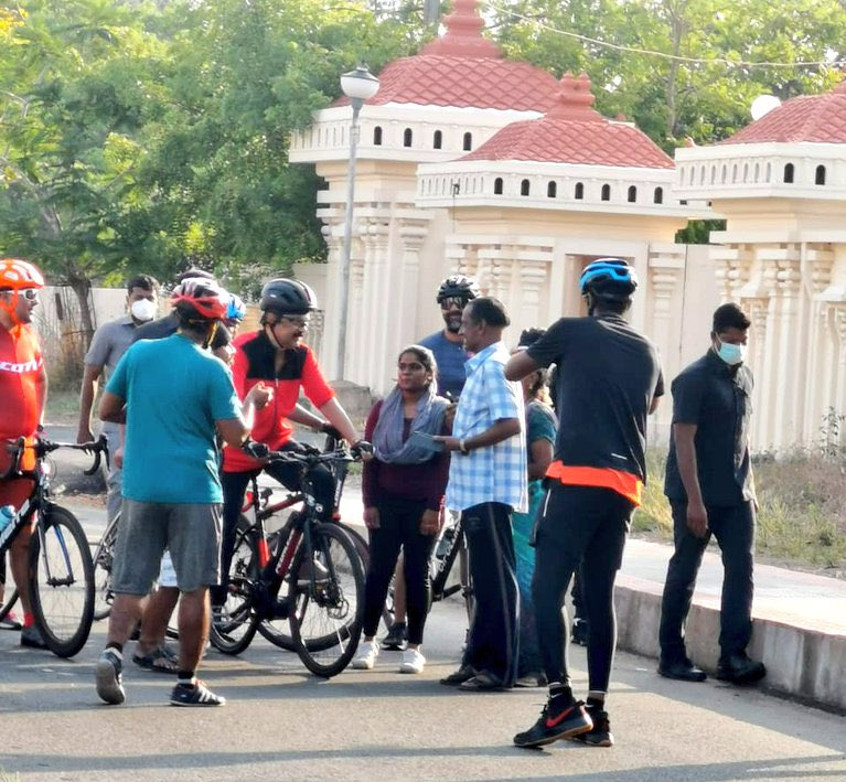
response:
<path id="1" fill-rule="evenodd" d="M 12 334 L 0 326 L 0 439 L 13 440 L 21 436 L 31 442 L 41 420 L 43 401 L 44 360 L 35 332 L 21 325 Z M 0 454 L 2 472 L 8 462 Z M 31 448 L 24 452 L 21 468 L 32 470 L 35 457 Z"/>

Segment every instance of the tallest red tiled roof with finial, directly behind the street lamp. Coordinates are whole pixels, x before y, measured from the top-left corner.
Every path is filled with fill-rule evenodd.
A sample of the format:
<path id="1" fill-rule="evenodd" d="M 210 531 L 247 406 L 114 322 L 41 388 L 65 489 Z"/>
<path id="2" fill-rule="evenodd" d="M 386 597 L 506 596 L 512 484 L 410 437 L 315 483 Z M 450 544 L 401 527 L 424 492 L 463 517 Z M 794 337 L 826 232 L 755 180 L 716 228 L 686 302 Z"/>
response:
<path id="1" fill-rule="evenodd" d="M 459 108 L 546 111 L 555 103 L 555 77 L 528 63 L 504 60 L 500 47 L 482 36 L 484 20 L 476 0 L 456 0 L 443 23 L 447 32 L 379 73 L 379 92 L 367 101 Z M 336 105 L 349 103 L 341 98 Z"/>

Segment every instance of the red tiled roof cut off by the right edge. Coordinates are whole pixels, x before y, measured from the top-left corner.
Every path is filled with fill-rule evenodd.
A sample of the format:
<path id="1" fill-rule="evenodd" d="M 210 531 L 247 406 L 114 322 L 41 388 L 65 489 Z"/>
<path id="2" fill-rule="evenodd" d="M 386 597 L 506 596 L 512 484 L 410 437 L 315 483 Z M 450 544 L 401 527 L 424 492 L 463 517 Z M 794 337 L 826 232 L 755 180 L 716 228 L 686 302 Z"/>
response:
<path id="1" fill-rule="evenodd" d="M 846 143 L 846 82 L 825 95 L 788 100 L 728 139 L 728 143 Z"/>

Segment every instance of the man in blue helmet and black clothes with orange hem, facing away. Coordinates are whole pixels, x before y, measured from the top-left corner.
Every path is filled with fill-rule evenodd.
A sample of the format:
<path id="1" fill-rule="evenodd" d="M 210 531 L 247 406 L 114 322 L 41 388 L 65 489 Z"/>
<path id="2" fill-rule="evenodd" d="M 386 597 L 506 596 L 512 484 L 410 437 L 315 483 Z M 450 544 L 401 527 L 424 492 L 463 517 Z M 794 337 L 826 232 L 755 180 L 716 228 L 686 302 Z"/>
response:
<path id="1" fill-rule="evenodd" d="M 646 418 L 664 393 L 655 347 L 623 318 L 636 287 L 634 269 L 620 258 L 588 264 L 580 279 L 588 317 L 560 319 L 505 366 L 511 381 L 538 366 L 560 367 L 560 427 L 536 522 L 532 583 L 549 699 L 537 722 L 514 737 L 517 747 L 567 738 L 613 743 L 604 704 L 617 643 L 614 580 L 646 481 Z M 590 623 L 587 707 L 570 687 L 561 618 L 580 563 Z"/>

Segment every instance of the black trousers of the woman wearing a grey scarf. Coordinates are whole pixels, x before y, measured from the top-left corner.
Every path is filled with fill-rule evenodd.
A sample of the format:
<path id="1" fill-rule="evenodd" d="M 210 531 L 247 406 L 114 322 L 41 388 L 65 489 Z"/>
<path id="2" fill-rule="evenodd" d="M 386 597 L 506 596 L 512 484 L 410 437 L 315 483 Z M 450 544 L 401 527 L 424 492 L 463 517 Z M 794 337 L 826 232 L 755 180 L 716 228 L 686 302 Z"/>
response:
<path id="1" fill-rule="evenodd" d="M 404 551 L 408 643 L 422 643 L 426 614 L 429 611 L 431 585 L 429 557 L 435 535 L 420 534 L 420 519 L 426 511 L 421 500 L 382 499 L 376 502 L 379 526 L 370 531 L 371 563 L 364 590 L 364 634 L 375 635 L 382 607 L 390 586 L 399 549 Z"/>

